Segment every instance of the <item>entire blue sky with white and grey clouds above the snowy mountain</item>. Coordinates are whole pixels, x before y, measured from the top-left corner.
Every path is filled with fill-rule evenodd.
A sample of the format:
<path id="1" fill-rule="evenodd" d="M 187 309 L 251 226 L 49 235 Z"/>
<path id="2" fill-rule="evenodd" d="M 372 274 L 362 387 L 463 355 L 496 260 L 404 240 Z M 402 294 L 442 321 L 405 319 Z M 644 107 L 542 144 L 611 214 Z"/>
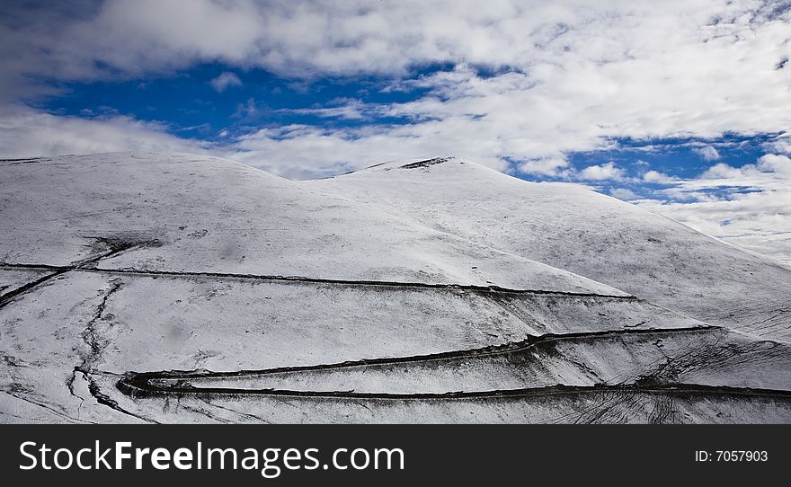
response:
<path id="1" fill-rule="evenodd" d="M 31 0 L 0 156 L 221 155 L 292 179 L 457 155 L 791 261 L 791 3 Z"/>

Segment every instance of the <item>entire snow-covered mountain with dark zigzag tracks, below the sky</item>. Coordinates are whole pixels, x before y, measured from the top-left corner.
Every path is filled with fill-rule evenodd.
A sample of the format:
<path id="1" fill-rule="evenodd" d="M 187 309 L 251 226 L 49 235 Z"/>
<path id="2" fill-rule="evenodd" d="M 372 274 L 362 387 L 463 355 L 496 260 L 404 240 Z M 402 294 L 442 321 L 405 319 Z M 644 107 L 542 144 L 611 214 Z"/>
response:
<path id="1" fill-rule="evenodd" d="M 0 162 L 0 421 L 788 422 L 791 269 L 452 158 Z"/>

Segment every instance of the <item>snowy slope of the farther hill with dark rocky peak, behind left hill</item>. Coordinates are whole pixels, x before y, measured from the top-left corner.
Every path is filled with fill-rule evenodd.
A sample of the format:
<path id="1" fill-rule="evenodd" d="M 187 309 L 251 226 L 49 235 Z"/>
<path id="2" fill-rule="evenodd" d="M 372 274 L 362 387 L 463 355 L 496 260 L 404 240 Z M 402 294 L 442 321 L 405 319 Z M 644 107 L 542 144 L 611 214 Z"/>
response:
<path id="1" fill-rule="evenodd" d="M 449 235 L 572 271 L 759 337 L 791 341 L 791 268 L 579 186 L 454 158 L 309 182 Z"/>

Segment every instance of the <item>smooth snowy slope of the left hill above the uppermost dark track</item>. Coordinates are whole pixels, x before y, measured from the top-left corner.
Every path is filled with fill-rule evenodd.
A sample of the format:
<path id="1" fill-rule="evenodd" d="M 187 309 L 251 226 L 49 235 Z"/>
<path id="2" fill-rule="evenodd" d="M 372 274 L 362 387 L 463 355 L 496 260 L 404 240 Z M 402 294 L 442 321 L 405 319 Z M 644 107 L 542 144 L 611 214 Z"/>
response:
<path id="1" fill-rule="evenodd" d="M 69 265 L 122 249 L 104 262 L 619 294 L 230 161 L 117 154 L 6 162 L 2 170 L 4 262 Z"/>

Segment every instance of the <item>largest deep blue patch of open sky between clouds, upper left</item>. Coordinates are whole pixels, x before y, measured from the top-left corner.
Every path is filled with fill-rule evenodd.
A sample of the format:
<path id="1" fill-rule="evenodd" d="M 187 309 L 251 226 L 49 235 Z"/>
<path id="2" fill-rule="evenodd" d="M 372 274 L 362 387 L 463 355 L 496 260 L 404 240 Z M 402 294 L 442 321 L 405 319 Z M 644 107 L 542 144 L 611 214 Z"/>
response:
<path id="1" fill-rule="evenodd" d="M 253 128 L 289 124 L 354 127 L 360 124 L 405 123 L 399 117 L 348 120 L 299 112 L 341 106 L 344 101 L 397 103 L 414 100 L 425 89 L 383 93 L 390 80 L 376 76 L 322 77 L 310 80 L 274 75 L 263 69 L 228 71 L 212 63 L 191 66 L 169 75 L 129 80 L 58 83 L 61 93 L 34 102 L 41 110 L 83 118 L 125 115 L 137 120 L 164 122 L 177 137 L 222 143 Z M 428 73 L 416 72 L 416 75 Z M 220 75 L 236 76 L 240 84 L 218 91 L 212 81 Z M 244 80 L 244 81 L 242 81 Z M 250 109 L 255 112 L 251 113 Z M 225 131 L 227 135 L 220 134 Z"/>

